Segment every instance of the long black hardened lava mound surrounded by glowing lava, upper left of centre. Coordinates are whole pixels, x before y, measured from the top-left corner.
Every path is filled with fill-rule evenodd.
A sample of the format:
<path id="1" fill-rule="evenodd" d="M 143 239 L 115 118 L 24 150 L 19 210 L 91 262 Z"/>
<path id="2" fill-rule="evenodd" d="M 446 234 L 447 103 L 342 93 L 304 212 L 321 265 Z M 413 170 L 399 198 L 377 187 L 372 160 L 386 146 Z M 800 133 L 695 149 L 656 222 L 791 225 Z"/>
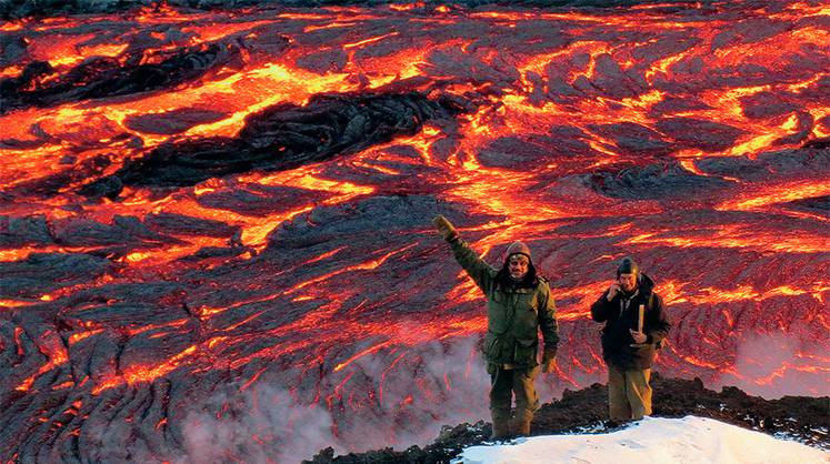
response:
<path id="1" fill-rule="evenodd" d="M 81 193 L 114 198 L 123 185 L 183 186 L 251 170 L 292 169 L 414 133 L 423 122 L 457 112 L 454 104 L 420 93 L 322 95 L 306 107 L 278 104 L 249 115 L 238 138 L 164 144 Z"/>

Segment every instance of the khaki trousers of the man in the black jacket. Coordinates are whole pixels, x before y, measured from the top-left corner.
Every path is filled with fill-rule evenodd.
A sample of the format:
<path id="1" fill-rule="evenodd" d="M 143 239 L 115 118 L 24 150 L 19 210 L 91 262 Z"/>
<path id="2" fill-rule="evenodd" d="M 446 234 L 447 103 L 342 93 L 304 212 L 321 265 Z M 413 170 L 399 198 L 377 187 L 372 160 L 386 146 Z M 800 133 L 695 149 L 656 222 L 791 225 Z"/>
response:
<path id="1" fill-rule="evenodd" d="M 608 413 L 611 421 L 637 421 L 651 415 L 650 377 L 650 369 L 622 371 L 608 366 Z"/>

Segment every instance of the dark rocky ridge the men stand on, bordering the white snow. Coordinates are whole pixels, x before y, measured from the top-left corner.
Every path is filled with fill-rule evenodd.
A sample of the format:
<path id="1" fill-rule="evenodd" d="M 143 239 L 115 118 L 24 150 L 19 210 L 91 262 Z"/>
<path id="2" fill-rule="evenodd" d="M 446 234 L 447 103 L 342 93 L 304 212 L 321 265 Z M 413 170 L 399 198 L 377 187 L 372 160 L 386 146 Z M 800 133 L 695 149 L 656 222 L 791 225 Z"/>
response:
<path id="1" fill-rule="evenodd" d="M 653 375 L 652 387 L 654 416 L 711 417 L 744 428 L 787 436 L 820 448 L 830 448 L 830 438 L 821 432 L 830 427 L 830 399 L 827 396 L 763 400 L 750 396 L 737 387 L 727 386 L 718 393 L 704 389 L 699 379 L 663 379 L 659 374 Z M 531 435 L 609 433 L 624 427 L 624 424 L 613 424 L 607 420 L 607 401 L 608 387 L 598 383 L 577 392 L 566 390 L 561 400 L 544 404 L 537 412 L 531 424 Z M 329 447 L 303 463 L 446 463 L 458 456 L 464 447 L 492 443 L 488 441 L 490 430 L 490 424 L 483 422 L 444 426 L 438 438 L 423 448 L 386 448 L 334 456 L 333 450 Z"/>

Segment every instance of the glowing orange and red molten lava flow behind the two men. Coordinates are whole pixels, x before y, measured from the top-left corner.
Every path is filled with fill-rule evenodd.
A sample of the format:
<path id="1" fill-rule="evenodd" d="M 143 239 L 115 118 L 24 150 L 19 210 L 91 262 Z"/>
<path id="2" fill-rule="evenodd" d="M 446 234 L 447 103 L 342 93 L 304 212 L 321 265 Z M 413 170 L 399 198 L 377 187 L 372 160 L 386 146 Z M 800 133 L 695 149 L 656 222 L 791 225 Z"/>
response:
<path id="1" fill-rule="evenodd" d="M 0 24 L 0 457 L 296 462 L 487 416 L 483 299 L 439 213 L 493 265 L 532 249 L 561 332 L 546 400 L 604 381 L 589 306 L 627 254 L 674 322 L 663 375 L 827 395 L 828 20 L 413 2 Z"/>

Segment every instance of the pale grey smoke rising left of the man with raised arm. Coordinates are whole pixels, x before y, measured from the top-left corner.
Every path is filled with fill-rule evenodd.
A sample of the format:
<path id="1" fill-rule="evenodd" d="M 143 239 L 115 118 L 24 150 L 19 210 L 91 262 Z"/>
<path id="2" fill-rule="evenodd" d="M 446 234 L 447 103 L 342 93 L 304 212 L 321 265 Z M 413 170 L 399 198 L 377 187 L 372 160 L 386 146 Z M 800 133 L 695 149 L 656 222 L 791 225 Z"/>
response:
<path id="1" fill-rule="evenodd" d="M 430 443 L 442 425 L 489 420 L 489 376 L 477 339 L 426 343 L 403 353 L 392 367 L 386 356 L 400 353 L 363 356 L 346 370 L 357 387 L 346 385 L 339 399 L 313 404 L 303 404 L 290 387 L 266 375 L 243 391 L 226 387 L 188 412 L 182 425 L 187 454 L 178 462 L 290 463 L 327 446 L 338 454 L 400 448 Z M 363 390 L 356 377 L 371 386 Z M 376 407 L 366 407 L 367 401 Z M 331 412 L 327 402 L 333 404 Z"/>

